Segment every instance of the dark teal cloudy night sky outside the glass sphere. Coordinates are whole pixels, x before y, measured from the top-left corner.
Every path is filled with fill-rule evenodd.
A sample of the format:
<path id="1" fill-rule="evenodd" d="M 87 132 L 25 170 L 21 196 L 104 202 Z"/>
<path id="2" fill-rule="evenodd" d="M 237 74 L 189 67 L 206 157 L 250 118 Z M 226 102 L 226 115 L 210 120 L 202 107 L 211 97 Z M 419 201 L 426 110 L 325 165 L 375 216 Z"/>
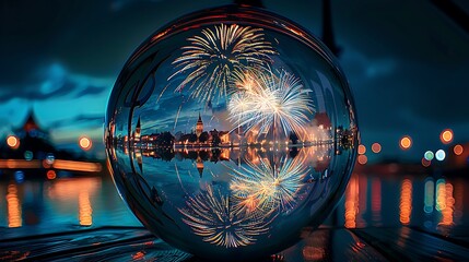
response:
<path id="1" fill-rule="evenodd" d="M 0 139 L 34 109 L 57 144 L 77 143 L 83 134 L 101 144 L 109 92 L 137 46 L 185 13 L 230 2 L 2 1 Z M 321 1 L 263 2 L 321 35 Z M 464 0 L 454 2 L 469 13 Z M 446 128 L 455 142 L 469 141 L 467 31 L 426 0 L 332 0 L 331 8 L 362 143 L 383 145 L 372 160 L 420 159 L 443 146 L 439 133 Z M 414 143 L 408 152 L 398 145 L 404 134 Z"/>

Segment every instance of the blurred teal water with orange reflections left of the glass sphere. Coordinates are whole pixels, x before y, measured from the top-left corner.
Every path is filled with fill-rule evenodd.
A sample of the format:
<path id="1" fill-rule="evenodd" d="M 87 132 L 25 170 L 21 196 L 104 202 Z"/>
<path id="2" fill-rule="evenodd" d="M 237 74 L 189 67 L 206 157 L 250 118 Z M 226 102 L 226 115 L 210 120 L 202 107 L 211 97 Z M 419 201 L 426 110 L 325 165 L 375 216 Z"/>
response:
<path id="1" fill-rule="evenodd" d="M 140 226 L 107 174 L 55 180 L 0 181 L 1 227 L 63 230 L 58 226 Z M 8 231 L 14 234 L 14 231 Z"/>

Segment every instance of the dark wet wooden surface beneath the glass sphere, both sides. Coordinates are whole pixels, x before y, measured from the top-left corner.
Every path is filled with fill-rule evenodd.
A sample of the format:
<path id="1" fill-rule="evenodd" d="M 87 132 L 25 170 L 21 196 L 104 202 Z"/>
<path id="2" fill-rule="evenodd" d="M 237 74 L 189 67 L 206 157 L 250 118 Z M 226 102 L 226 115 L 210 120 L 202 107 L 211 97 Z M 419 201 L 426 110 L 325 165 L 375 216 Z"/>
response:
<path id="1" fill-rule="evenodd" d="M 415 227 L 305 230 L 267 261 L 469 261 L 468 228 Z M 101 227 L 30 237 L 0 237 L 0 261 L 200 262 L 141 227 Z"/>

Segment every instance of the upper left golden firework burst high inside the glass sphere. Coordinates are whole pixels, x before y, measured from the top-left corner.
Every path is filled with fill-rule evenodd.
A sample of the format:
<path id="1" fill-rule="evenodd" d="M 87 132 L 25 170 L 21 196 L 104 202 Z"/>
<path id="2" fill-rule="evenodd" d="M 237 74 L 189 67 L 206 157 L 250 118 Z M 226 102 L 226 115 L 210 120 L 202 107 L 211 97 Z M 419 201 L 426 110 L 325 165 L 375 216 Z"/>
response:
<path id="1" fill-rule="evenodd" d="M 187 38 L 190 45 L 173 61 L 178 70 L 168 80 L 187 75 L 176 92 L 189 86 L 190 96 L 203 102 L 226 96 L 233 72 L 262 70 L 277 53 L 261 28 L 221 24 L 201 33 Z"/>

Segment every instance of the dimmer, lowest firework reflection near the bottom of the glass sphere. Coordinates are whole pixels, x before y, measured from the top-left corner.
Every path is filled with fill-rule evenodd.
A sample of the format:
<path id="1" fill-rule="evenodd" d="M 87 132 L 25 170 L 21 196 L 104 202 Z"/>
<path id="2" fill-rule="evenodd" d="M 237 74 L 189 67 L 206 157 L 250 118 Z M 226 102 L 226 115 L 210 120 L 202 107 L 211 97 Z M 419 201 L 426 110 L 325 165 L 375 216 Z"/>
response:
<path id="1" fill-rule="evenodd" d="M 187 209 L 179 209 L 185 216 L 183 222 L 206 242 L 237 248 L 254 243 L 258 236 L 269 230 L 268 222 L 234 212 L 230 195 L 211 186 L 190 196 L 186 203 Z"/>

